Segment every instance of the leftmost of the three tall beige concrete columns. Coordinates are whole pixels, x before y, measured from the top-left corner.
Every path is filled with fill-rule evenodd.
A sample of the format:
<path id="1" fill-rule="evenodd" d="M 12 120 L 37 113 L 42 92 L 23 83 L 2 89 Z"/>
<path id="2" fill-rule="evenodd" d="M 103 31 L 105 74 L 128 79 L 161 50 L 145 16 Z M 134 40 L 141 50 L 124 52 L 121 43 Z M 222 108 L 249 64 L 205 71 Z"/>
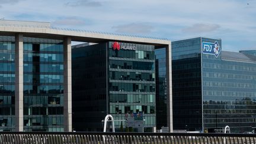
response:
<path id="1" fill-rule="evenodd" d="M 23 34 L 15 34 L 15 131 L 23 132 Z"/>

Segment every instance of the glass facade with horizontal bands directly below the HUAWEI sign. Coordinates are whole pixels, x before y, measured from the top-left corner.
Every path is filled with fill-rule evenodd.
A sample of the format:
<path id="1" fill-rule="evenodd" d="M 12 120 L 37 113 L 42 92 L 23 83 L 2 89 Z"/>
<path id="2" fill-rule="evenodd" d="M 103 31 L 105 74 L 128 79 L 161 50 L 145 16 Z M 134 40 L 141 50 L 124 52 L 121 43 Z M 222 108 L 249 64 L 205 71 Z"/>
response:
<path id="1" fill-rule="evenodd" d="M 120 43 L 136 46 L 136 50 L 114 50 L 113 43 L 108 43 L 109 112 L 114 120 L 124 120 L 125 114 L 142 114 L 144 131 L 152 132 L 156 126 L 155 47 Z M 115 121 L 115 125 L 120 128 L 121 121 Z"/>

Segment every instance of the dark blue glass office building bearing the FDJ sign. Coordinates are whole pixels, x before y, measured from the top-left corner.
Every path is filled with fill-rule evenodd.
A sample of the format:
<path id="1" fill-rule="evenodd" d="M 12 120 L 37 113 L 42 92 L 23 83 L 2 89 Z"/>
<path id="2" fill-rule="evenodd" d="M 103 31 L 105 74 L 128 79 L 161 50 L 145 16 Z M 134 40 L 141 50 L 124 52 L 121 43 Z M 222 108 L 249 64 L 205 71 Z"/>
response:
<path id="1" fill-rule="evenodd" d="M 203 37 L 172 42 L 174 130 L 255 127 L 255 50 L 226 52 L 221 43 Z"/>

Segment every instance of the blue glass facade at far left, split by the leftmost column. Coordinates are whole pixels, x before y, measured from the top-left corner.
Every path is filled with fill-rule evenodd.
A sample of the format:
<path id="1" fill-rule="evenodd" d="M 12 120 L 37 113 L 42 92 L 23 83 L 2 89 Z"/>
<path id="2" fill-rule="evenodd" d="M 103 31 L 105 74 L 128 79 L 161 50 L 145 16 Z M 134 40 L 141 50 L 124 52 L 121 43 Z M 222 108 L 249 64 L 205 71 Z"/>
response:
<path id="1" fill-rule="evenodd" d="M 63 131 L 63 43 L 24 37 L 24 131 Z M 0 131 L 15 130 L 15 38 L 0 36 Z"/>

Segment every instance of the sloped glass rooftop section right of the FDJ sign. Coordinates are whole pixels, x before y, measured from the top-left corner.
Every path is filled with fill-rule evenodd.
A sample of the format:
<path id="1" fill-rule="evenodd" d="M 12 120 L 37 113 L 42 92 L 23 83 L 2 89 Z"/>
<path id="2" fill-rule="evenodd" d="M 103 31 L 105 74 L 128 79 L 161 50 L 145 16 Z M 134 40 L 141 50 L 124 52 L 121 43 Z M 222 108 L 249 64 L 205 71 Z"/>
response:
<path id="1" fill-rule="evenodd" d="M 238 53 L 238 52 L 229 52 L 224 50 L 222 51 L 222 59 L 256 63 L 256 56 L 254 55 L 249 55 L 246 53 Z"/>

